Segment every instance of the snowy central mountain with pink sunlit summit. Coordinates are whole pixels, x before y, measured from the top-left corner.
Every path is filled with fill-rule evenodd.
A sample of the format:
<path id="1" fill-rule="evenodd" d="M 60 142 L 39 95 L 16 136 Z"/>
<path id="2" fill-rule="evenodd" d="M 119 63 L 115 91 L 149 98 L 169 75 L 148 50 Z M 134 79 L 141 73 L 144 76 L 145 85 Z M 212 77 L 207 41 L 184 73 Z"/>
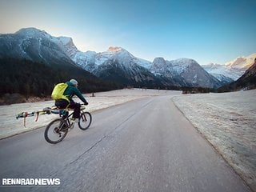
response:
<path id="1" fill-rule="evenodd" d="M 125 85 L 159 86 L 161 82 L 158 78 L 143 67 L 149 63 L 134 57 L 121 47 L 110 47 L 107 51 L 95 55 L 94 70 L 91 72 L 100 78 L 122 82 Z"/>

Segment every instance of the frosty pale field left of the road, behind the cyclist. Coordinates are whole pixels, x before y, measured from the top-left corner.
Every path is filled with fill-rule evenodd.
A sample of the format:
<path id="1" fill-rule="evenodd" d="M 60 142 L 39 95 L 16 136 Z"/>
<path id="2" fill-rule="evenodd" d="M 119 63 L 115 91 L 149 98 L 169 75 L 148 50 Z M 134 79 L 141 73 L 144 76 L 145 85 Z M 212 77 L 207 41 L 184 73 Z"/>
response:
<path id="1" fill-rule="evenodd" d="M 145 98 L 150 96 L 166 95 L 166 94 L 181 94 L 180 91 L 170 90 L 113 90 L 101 93 L 85 94 L 85 98 L 89 105 L 86 110 L 93 112 L 101 110 L 110 106 L 115 106 L 124 102 L 129 102 L 138 98 Z M 81 102 L 78 98 L 74 98 L 76 102 Z M 6 138 L 15 134 L 34 130 L 42 126 L 46 126 L 54 118 L 58 118 L 58 114 L 45 114 L 40 115 L 38 122 L 35 122 L 36 117 L 26 118 L 26 127 L 23 126 L 24 119 L 19 118 L 16 120 L 16 114 L 21 112 L 33 112 L 43 110 L 46 107 L 54 106 L 54 101 L 47 102 L 26 102 L 9 106 L 0 106 L 0 139 Z"/>

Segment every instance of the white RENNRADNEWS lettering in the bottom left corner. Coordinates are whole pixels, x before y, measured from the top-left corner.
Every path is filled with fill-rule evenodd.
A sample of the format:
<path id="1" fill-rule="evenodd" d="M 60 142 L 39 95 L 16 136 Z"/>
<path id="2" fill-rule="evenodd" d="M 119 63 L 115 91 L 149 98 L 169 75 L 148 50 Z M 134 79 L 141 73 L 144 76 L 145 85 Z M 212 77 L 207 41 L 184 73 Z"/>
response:
<path id="1" fill-rule="evenodd" d="M 2 178 L 2 186 L 60 186 L 59 178 Z"/>

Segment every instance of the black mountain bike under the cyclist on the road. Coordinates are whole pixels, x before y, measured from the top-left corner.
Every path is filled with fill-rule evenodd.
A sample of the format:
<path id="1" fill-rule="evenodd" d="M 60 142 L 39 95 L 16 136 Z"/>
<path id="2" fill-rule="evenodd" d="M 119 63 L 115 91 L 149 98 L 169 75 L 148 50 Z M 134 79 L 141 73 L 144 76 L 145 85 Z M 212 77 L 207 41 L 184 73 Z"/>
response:
<path id="1" fill-rule="evenodd" d="M 81 106 L 80 118 L 78 121 L 78 127 L 81 130 L 87 130 L 91 124 L 91 114 L 87 111 L 86 106 Z M 56 144 L 61 142 L 65 137 L 69 130 L 74 128 L 74 122 L 71 122 L 70 116 L 74 114 L 74 111 L 69 114 L 71 109 L 51 109 L 52 114 L 59 114 L 61 118 L 57 118 L 54 121 L 50 122 L 48 126 L 46 126 L 45 130 L 45 139 L 46 142 L 50 142 Z"/>

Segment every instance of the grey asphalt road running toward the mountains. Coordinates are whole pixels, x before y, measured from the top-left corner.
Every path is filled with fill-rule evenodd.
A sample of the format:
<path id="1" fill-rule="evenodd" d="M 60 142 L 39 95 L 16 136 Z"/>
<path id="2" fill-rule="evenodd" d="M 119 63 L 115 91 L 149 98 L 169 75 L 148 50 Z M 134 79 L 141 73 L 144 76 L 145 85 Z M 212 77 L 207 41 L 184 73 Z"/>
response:
<path id="1" fill-rule="evenodd" d="M 250 191 L 174 106 L 142 98 L 92 113 L 56 144 L 44 128 L 0 141 L 2 178 L 60 178 L 60 186 L 0 191 Z"/>

